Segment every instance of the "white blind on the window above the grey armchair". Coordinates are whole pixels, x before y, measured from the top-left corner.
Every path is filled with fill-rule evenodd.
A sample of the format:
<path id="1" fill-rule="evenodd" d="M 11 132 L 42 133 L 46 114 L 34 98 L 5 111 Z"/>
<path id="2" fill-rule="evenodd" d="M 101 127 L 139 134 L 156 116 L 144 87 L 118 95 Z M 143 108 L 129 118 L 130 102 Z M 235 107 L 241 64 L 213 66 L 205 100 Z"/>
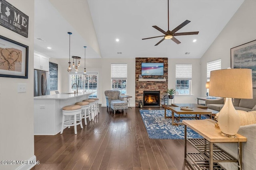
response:
<path id="1" fill-rule="evenodd" d="M 127 64 L 111 64 L 111 79 L 127 80 Z"/>

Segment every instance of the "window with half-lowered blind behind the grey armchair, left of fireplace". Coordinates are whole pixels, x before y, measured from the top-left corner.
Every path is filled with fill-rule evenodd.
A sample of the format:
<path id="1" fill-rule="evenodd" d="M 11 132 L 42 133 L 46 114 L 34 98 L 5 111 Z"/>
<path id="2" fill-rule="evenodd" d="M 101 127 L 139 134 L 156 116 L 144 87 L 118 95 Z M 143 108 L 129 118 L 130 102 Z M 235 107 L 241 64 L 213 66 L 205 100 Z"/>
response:
<path id="1" fill-rule="evenodd" d="M 111 64 L 111 90 L 126 94 L 127 64 Z"/>

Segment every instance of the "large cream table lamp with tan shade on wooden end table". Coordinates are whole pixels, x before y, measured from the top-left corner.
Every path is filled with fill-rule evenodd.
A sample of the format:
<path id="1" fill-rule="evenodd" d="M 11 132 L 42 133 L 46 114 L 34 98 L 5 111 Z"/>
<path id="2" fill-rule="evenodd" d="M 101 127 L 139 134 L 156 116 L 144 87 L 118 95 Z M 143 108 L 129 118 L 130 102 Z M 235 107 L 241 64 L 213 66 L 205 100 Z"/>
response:
<path id="1" fill-rule="evenodd" d="M 232 68 L 210 72 L 209 95 L 226 98 L 218 115 L 222 135 L 235 137 L 240 127 L 240 118 L 232 98 L 252 99 L 252 70 Z"/>

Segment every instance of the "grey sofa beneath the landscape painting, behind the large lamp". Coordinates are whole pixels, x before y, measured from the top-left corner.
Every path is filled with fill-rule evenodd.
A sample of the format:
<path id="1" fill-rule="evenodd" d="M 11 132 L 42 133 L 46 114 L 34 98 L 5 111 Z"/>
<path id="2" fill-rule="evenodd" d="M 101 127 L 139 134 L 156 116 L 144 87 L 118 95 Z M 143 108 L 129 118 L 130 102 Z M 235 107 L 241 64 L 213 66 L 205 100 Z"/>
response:
<path id="1" fill-rule="evenodd" d="M 234 99 L 233 105 L 236 110 L 253 111 L 256 110 L 256 88 L 253 89 L 252 99 Z M 224 106 L 224 98 L 206 99 L 205 106 L 208 109 L 220 111 Z"/>

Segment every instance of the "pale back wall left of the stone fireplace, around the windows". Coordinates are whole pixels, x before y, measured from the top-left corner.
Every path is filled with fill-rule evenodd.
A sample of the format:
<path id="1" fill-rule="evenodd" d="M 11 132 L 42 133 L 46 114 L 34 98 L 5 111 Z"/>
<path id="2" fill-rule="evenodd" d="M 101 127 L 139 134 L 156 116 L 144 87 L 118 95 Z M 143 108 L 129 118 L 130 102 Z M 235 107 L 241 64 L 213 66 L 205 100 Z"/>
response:
<path id="1" fill-rule="evenodd" d="M 60 92 L 69 92 L 68 59 L 56 59 L 58 64 L 58 81 L 61 79 Z M 106 106 L 104 91 L 111 89 L 111 64 L 128 64 L 127 94 L 130 98 L 130 105 L 135 106 L 135 59 L 86 59 L 86 72 L 98 72 L 98 98 L 102 106 Z M 79 71 L 84 71 L 84 61 L 82 60 Z"/>

